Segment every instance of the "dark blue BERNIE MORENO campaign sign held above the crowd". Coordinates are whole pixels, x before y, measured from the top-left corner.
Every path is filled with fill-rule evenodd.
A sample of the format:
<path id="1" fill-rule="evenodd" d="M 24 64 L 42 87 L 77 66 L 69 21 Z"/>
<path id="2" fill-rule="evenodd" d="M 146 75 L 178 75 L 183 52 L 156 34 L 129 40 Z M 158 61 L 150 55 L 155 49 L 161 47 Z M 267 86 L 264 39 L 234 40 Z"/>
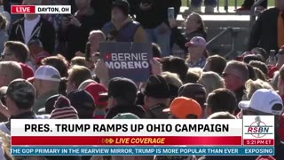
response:
<path id="1" fill-rule="evenodd" d="M 100 43 L 99 53 L 110 78 L 123 76 L 134 82 L 145 82 L 151 74 L 150 43 Z"/>

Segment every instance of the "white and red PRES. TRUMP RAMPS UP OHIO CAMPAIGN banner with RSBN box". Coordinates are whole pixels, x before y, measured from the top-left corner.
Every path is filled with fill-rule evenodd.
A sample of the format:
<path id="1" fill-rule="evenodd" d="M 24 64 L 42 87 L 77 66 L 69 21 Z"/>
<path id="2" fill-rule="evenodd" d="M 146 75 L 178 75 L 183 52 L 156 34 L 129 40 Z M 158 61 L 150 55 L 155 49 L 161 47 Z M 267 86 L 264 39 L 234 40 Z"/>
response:
<path id="1" fill-rule="evenodd" d="M 241 119 L 12 119 L 19 146 L 274 146 L 274 116 Z"/>

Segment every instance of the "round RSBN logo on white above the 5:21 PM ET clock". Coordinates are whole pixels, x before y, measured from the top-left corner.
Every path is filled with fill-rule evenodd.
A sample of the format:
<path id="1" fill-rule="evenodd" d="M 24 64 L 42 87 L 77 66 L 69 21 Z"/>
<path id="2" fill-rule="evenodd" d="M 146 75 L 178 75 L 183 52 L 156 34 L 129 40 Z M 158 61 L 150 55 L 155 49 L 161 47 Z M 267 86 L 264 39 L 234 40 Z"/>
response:
<path id="1" fill-rule="evenodd" d="M 255 138 L 263 138 L 267 134 L 272 134 L 270 128 L 273 126 L 266 125 L 264 122 L 261 121 L 260 116 L 256 116 L 255 122 L 250 124 L 248 127 L 248 132 L 245 134 L 251 134 Z"/>

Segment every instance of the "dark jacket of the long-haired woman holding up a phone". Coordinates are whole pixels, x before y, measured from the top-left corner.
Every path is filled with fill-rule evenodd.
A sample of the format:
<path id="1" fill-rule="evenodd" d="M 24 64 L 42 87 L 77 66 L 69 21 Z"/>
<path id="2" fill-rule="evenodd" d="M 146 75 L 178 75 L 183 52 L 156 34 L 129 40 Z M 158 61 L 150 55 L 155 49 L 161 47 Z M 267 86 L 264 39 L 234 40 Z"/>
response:
<path id="1" fill-rule="evenodd" d="M 194 36 L 201 36 L 205 40 L 207 38 L 206 32 L 203 31 L 194 31 L 190 34 L 182 34 L 178 28 L 171 28 L 170 47 L 176 43 L 181 49 L 187 52 L 187 47 L 185 47 L 185 44 L 188 43 Z"/>

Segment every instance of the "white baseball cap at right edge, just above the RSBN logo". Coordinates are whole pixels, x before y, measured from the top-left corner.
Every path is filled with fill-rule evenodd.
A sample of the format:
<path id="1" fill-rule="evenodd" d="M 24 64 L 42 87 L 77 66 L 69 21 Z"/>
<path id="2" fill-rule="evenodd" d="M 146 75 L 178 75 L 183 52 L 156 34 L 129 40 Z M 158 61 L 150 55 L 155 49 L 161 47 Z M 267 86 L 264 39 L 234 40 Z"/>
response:
<path id="1" fill-rule="evenodd" d="M 253 109 L 272 115 L 281 115 L 283 111 L 283 101 L 277 92 L 260 89 L 257 90 L 250 100 L 239 103 L 241 109 Z"/>

